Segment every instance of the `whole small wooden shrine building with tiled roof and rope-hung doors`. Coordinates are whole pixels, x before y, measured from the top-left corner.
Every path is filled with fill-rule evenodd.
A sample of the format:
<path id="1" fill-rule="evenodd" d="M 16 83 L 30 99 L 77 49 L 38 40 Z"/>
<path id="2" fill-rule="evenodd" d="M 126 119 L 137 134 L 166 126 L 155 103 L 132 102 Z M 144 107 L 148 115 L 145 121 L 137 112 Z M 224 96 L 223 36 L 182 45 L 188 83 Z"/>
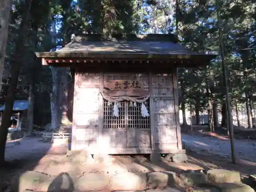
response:
<path id="1" fill-rule="evenodd" d="M 182 153 L 177 68 L 205 66 L 173 35 L 76 36 L 36 53 L 42 65 L 75 70 L 71 150 L 89 154 Z"/>

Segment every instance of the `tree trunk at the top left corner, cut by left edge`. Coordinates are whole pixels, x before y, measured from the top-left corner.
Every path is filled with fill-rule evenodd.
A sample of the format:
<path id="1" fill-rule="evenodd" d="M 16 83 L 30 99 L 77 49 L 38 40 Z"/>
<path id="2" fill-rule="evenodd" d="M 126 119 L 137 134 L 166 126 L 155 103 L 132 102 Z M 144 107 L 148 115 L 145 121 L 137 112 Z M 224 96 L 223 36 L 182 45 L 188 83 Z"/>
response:
<path id="1" fill-rule="evenodd" d="M 2 77 L 5 65 L 5 54 L 8 40 L 8 26 L 11 13 L 11 5 L 11 0 L 0 1 L 0 91 L 2 90 Z"/>

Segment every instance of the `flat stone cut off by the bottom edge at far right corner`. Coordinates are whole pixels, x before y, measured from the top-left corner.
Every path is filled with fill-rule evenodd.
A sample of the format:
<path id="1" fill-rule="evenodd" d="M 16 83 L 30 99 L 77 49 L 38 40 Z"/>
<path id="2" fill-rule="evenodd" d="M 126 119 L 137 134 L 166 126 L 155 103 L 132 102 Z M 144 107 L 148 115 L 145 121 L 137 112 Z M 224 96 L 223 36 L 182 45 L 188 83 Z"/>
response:
<path id="1" fill-rule="evenodd" d="M 254 192 L 254 189 L 243 183 L 223 183 L 220 184 L 221 192 Z"/>

